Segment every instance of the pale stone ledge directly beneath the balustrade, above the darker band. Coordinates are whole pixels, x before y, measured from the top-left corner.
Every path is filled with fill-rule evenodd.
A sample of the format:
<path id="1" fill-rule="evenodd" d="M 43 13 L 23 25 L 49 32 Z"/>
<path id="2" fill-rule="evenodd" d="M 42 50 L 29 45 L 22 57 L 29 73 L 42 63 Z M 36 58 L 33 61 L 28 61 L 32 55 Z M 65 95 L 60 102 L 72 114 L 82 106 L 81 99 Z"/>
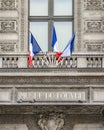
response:
<path id="1" fill-rule="evenodd" d="M 34 68 L 34 69 L 0 69 L 0 76 L 104 76 L 104 69 L 100 68 L 81 68 L 81 69 L 64 69 L 64 68 Z"/>

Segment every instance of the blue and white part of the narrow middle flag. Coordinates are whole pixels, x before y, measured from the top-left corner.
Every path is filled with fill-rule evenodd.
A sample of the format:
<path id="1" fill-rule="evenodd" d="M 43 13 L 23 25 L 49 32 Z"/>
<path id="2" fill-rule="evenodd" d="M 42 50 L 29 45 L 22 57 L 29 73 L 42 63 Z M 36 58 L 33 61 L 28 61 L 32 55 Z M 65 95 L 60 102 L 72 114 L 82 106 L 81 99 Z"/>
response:
<path id="1" fill-rule="evenodd" d="M 54 26 L 53 26 L 53 34 L 52 34 L 52 48 L 54 52 L 59 52 L 57 35 L 56 35 L 56 30 Z"/>

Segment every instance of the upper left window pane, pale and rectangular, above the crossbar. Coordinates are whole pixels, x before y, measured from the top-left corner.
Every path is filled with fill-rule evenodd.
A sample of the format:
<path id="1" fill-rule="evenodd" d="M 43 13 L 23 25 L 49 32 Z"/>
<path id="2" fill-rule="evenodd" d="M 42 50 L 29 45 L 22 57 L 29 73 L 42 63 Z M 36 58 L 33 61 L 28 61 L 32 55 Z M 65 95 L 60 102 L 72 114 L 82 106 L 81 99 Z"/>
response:
<path id="1" fill-rule="evenodd" d="M 47 16 L 48 0 L 30 0 L 30 16 Z"/>

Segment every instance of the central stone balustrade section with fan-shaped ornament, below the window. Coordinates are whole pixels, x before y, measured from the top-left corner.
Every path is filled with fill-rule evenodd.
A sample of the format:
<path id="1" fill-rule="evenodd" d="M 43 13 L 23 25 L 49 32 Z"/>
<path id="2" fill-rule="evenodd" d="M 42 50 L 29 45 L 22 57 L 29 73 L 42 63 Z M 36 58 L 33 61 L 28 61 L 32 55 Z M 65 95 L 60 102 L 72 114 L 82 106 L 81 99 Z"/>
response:
<path id="1" fill-rule="evenodd" d="M 58 58 L 54 56 L 54 53 L 47 53 L 45 55 L 37 55 L 33 58 L 34 68 L 76 68 L 77 57 L 65 57 L 61 58 L 58 62 Z"/>

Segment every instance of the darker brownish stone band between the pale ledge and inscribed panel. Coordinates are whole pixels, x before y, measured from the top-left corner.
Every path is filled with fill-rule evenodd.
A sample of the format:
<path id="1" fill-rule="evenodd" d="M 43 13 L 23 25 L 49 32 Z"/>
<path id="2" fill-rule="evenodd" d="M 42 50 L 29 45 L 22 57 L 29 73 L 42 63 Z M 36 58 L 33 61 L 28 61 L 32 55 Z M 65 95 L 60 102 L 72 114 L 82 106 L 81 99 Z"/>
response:
<path id="1" fill-rule="evenodd" d="M 18 69 L 17 69 L 18 70 Z M 20 70 L 21 71 L 21 70 Z M 86 71 L 91 71 L 87 69 Z M 99 70 L 100 71 L 100 70 Z M 11 71 L 12 72 L 12 71 Z M 19 71 L 17 71 L 19 72 Z M 80 71 L 81 72 L 81 69 Z M 96 72 L 96 71 L 95 71 Z M 61 74 L 61 73 L 60 73 Z M 25 73 L 22 73 L 25 75 Z M 56 78 L 57 77 L 57 78 Z M 6 82 L 5 82 L 6 81 Z M 61 84 L 61 85 L 102 85 L 104 84 L 104 76 L 5 76 L 0 77 L 0 84 L 31 84 L 31 85 L 49 85 L 49 84 Z"/>

